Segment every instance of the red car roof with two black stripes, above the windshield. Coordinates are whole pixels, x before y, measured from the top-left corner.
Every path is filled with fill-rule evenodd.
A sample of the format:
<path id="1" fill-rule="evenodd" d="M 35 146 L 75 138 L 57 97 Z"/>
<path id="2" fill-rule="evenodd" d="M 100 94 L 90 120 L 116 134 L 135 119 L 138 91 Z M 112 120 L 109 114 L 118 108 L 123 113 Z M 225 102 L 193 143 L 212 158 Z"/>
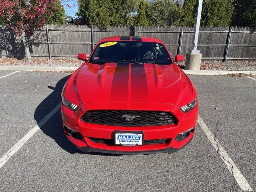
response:
<path id="1" fill-rule="evenodd" d="M 152 37 L 138 37 L 138 36 L 114 36 L 102 38 L 100 42 L 109 42 L 109 41 L 144 41 L 144 42 L 154 42 L 162 43 L 159 39 Z"/>

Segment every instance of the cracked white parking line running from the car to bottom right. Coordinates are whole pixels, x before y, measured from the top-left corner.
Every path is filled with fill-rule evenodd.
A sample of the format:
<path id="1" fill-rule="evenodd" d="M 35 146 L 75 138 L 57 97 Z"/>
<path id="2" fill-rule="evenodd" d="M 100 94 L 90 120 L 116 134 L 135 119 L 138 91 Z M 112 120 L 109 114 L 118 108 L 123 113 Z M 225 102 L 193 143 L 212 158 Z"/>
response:
<path id="1" fill-rule="evenodd" d="M 214 138 L 214 134 L 210 131 L 207 125 L 204 123 L 202 118 L 198 115 L 198 124 L 206 134 L 207 138 L 210 140 L 212 145 L 214 146 L 215 150 L 220 154 L 221 159 L 224 161 L 225 165 L 227 166 L 230 173 L 234 176 L 236 182 L 240 186 L 241 190 L 243 191 L 252 191 L 249 183 L 246 181 L 240 170 L 237 168 L 236 164 L 232 161 L 230 156 L 221 146 L 216 138 Z"/>

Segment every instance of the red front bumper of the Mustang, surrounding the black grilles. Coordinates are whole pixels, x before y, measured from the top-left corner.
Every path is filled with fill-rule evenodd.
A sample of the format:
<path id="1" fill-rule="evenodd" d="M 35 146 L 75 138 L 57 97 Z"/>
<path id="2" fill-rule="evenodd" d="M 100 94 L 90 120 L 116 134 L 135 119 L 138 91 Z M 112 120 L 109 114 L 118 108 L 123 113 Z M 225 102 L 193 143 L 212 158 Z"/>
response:
<path id="1" fill-rule="evenodd" d="M 124 127 L 124 126 L 107 126 L 100 124 L 90 124 L 82 122 L 80 119 L 86 110 L 95 109 L 118 109 L 118 106 L 111 107 L 110 104 L 88 103 L 85 106 L 80 105 L 80 111 L 73 112 L 61 105 L 61 115 L 63 124 L 79 132 L 82 138 L 74 138 L 64 129 L 68 140 L 79 150 L 83 152 L 100 152 L 112 154 L 151 154 L 151 153 L 174 153 L 186 146 L 194 136 L 196 122 L 198 117 L 198 105 L 192 111 L 184 114 L 180 107 L 170 104 L 148 104 L 144 110 L 169 111 L 176 116 L 178 124 L 162 126 L 143 126 L 143 127 Z M 119 105 L 122 107 L 122 105 Z M 120 108 L 122 110 L 123 108 Z M 134 109 L 133 109 L 134 110 Z M 135 109 L 140 110 L 140 109 Z M 187 138 L 182 141 L 175 140 L 179 133 L 194 127 L 193 131 Z M 144 140 L 168 139 L 168 142 L 161 144 L 147 144 L 142 146 L 115 146 L 112 144 L 92 142 L 90 138 L 114 139 L 114 131 L 143 131 Z"/>

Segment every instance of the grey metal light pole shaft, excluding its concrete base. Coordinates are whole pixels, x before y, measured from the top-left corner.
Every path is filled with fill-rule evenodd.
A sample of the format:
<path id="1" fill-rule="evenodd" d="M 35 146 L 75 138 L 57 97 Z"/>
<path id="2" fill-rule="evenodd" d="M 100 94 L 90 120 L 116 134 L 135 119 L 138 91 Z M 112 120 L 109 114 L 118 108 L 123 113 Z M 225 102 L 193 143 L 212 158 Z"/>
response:
<path id="1" fill-rule="evenodd" d="M 200 53 L 199 50 L 197 50 L 197 42 L 198 42 L 198 34 L 199 34 L 199 28 L 200 28 L 200 20 L 201 20 L 201 13 L 202 13 L 202 4 L 203 0 L 198 0 L 197 4 L 197 15 L 196 15 L 196 27 L 194 32 L 194 45 L 193 50 L 190 50 L 190 53 Z"/>

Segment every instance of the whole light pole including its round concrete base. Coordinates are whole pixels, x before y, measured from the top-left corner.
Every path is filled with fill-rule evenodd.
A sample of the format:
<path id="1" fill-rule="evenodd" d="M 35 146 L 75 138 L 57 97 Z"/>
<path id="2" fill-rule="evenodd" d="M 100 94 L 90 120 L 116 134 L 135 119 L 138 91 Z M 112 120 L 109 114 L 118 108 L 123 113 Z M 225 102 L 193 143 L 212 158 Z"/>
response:
<path id="1" fill-rule="evenodd" d="M 190 52 L 186 54 L 186 62 L 185 62 L 186 70 L 200 70 L 200 67 L 201 67 L 202 54 L 200 54 L 200 51 L 197 50 L 197 42 L 198 42 L 198 34 L 199 34 L 199 28 L 200 28 L 202 4 L 203 4 L 203 0 L 198 0 L 193 50 L 190 50 Z"/>

